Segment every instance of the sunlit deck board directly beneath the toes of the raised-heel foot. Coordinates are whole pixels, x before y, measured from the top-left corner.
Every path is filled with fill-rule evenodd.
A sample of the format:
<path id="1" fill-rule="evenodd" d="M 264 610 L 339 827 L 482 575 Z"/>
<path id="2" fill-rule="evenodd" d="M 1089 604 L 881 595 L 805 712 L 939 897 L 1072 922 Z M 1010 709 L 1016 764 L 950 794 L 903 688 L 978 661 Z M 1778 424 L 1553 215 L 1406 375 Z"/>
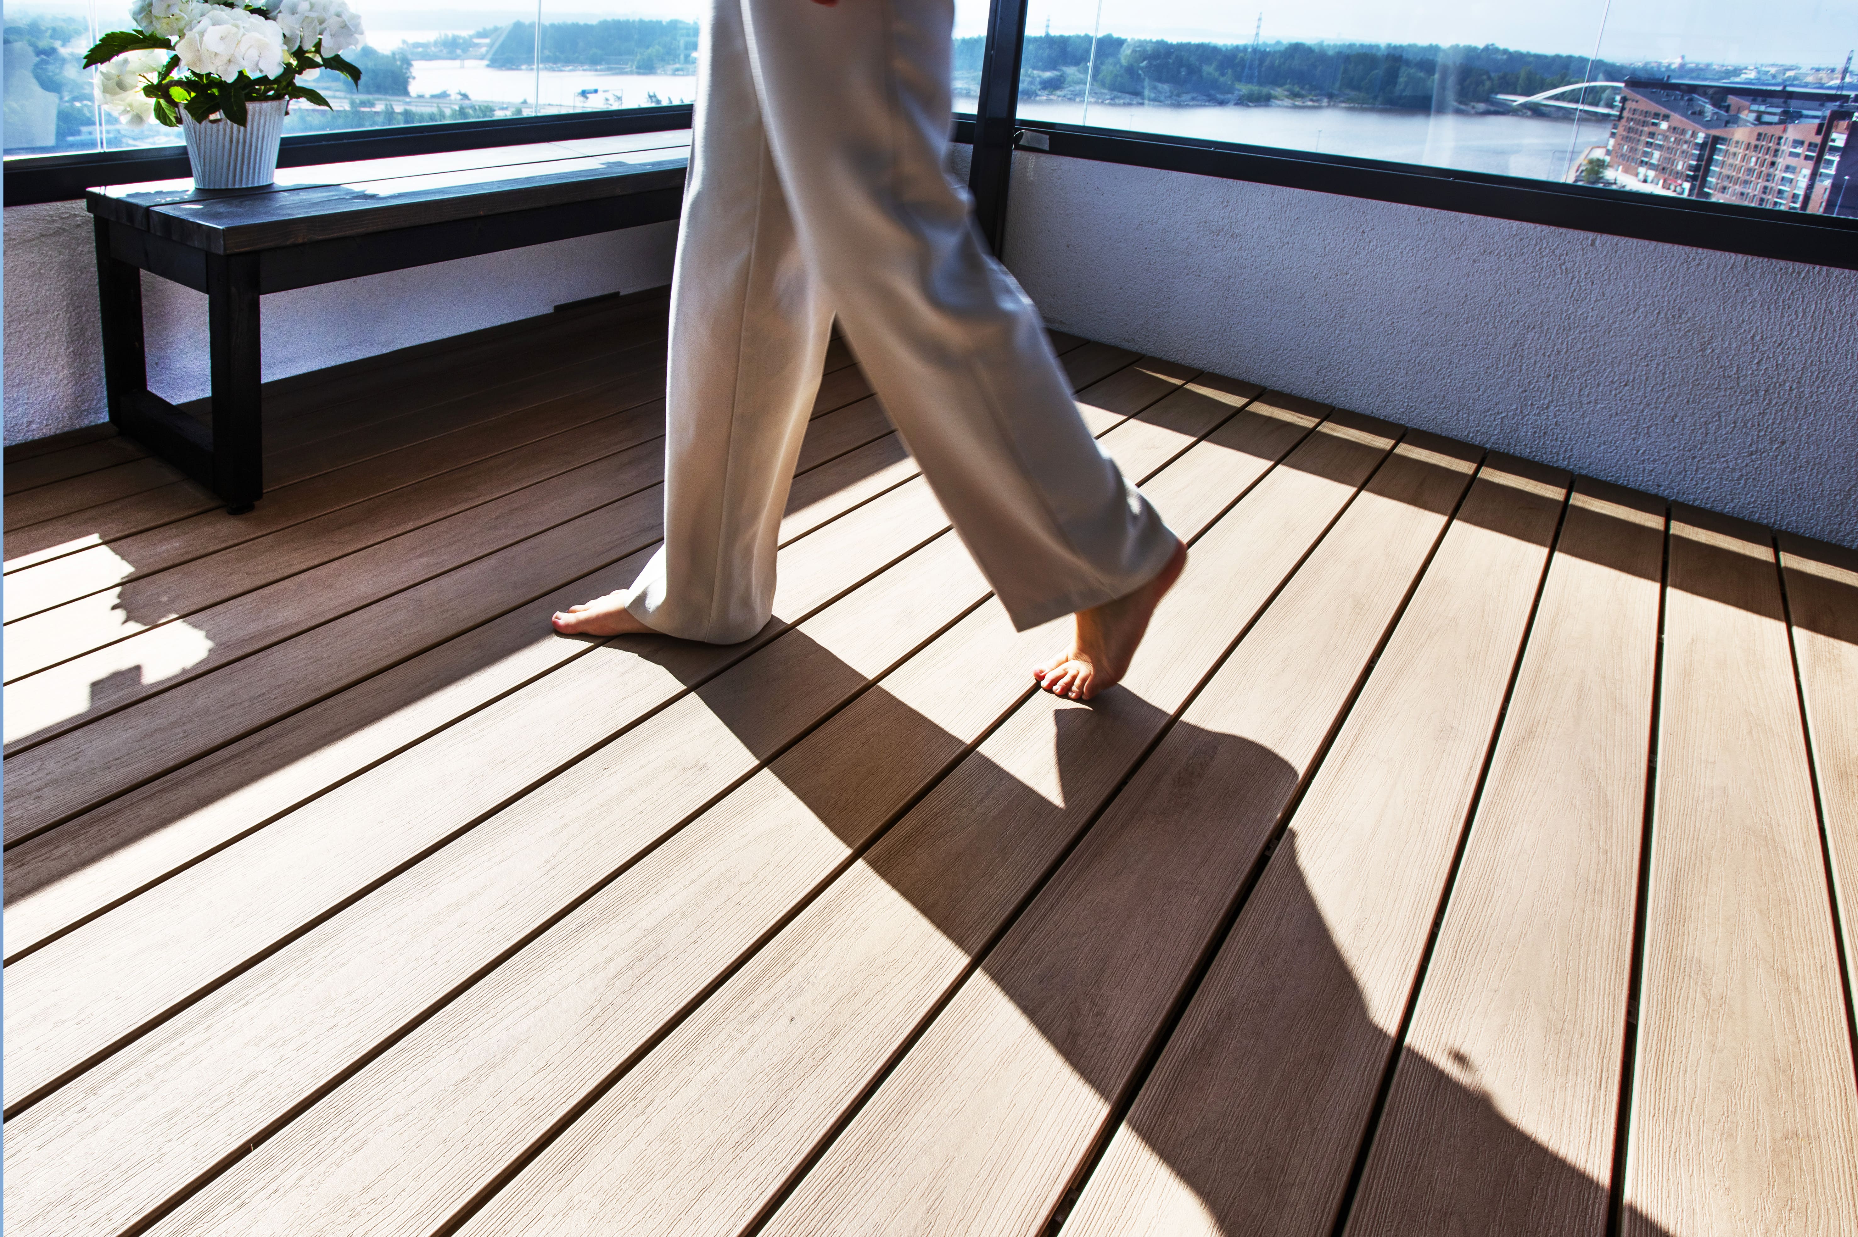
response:
<path id="1" fill-rule="evenodd" d="M 1271 420 L 1239 414 L 1208 446 Z M 752 1222 L 1390 448 L 1347 414 L 1310 435 L 1195 544 L 1122 689 L 1035 693 L 459 1231 Z M 1176 472 L 1152 487 L 1161 511 Z"/>

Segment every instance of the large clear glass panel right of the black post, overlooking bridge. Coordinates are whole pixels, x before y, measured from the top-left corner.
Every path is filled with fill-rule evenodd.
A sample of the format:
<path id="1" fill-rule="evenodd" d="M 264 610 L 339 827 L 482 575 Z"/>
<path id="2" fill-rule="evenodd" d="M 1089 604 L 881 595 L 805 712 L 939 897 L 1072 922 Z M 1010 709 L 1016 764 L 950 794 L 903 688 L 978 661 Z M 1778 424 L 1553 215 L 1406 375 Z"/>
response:
<path id="1" fill-rule="evenodd" d="M 1020 115 L 1858 215 L 1851 4 L 1031 0 Z M 959 48 L 961 65 L 979 48 Z"/>

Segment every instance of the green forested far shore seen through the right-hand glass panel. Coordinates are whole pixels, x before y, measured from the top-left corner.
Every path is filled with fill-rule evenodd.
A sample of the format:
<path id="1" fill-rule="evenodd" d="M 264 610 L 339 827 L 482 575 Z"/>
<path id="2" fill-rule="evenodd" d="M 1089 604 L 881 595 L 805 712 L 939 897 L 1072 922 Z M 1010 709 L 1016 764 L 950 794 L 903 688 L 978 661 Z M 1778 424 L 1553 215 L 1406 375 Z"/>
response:
<path id="1" fill-rule="evenodd" d="M 957 80 L 981 71 L 981 39 L 955 41 Z M 1020 89 L 1083 97 L 1091 35 L 1027 35 Z M 1626 69 L 1594 63 L 1598 82 Z M 1379 108 L 1475 108 L 1492 95 L 1535 95 L 1587 78 L 1585 56 L 1501 46 L 1271 43 L 1252 52 L 1230 43 L 1163 39 L 1096 41 L 1091 97 L 1150 102 L 1328 100 Z"/>

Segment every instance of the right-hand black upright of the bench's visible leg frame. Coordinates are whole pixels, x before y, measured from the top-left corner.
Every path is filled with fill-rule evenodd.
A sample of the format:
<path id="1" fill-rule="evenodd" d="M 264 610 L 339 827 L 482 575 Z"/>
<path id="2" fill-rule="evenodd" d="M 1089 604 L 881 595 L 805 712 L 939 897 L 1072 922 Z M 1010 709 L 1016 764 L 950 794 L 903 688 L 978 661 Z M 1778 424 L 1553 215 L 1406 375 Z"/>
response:
<path id="1" fill-rule="evenodd" d="M 214 490 L 242 514 L 264 494 L 258 254 L 206 254 L 212 336 Z"/>

